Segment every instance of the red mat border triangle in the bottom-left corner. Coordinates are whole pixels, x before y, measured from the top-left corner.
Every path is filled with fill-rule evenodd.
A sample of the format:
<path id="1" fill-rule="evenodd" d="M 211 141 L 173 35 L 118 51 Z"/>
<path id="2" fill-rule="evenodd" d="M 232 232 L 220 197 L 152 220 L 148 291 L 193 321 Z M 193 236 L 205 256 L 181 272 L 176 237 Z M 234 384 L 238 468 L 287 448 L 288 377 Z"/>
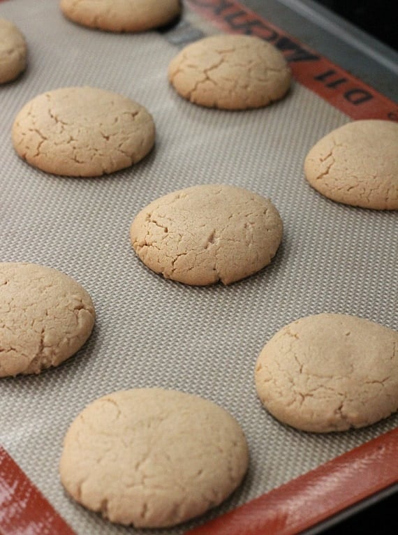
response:
<path id="1" fill-rule="evenodd" d="M 1 446 L 0 534 L 75 535 Z"/>

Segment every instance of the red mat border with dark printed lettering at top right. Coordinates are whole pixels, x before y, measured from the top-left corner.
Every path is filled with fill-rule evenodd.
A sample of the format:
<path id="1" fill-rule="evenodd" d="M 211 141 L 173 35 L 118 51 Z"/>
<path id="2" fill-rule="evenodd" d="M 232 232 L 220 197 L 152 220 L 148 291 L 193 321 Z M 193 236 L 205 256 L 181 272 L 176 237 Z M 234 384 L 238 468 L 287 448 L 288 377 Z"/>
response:
<path id="1" fill-rule="evenodd" d="M 398 121 L 397 103 L 239 2 L 235 0 L 185 0 L 185 2 L 192 10 L 223 31 L 258 36 L 272 43 L 289 61 L 297 82 L 314 91 L 351 119 Z"/>

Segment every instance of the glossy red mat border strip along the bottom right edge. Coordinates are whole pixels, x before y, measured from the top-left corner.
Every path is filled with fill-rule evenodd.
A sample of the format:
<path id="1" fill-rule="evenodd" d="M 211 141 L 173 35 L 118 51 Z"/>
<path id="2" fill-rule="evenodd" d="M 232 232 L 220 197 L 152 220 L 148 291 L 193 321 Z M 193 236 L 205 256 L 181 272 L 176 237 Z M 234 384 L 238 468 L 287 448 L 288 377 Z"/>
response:
<path id="1" fill-rule="evenodd" d="M 186 535 L 295 535 L 397 483 L 397 459 L 395 429 Z"/>

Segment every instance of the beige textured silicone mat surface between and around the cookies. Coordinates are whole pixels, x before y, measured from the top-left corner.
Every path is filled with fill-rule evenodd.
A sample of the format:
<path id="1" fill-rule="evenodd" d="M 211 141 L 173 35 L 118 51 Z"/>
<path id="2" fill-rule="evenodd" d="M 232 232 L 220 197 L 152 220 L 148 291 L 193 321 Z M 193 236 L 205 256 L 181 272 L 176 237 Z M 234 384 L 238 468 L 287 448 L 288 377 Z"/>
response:
<path id="1" fill-rule="evenodd" d="M 77 356 L 39 376 L 0 382 L 0 441 L 71 527 L 81 535 L 144 533 L 85 511 L 59 483 L 68 425 L 113 390 L 161 386 L 202 395 L 230 411 L 246 433 L 251 465 L 242 488 L 170 534 L 396 427 L 397 416 L 344 434 L 304 434 L 267 414 L 253 383 L 263 344 L 298 317 L 341 312 L 398 328 L 397 214 L 332 203 L 302 173 L 314 142 L 348 118 L 297 83 L 263 110 L 199 108 L 168 86 L 177 47 L 164 34 L 84 29 L 51 0 L 0 3 L 0 16 L 20 27 L 29 45 L 27 73 L 0 89 L 0 261 L 66 272 L 87 288 L 98 314 Z M 10 142 L 17 111 L 36 94 L 73 85 L 103 87 L 145 105 L 157 126 L 154 151 L 133 168 L 95 179 L 45 175 L 18 159 Z M 165 281 L 129 243 L 128 228 L 142 207 L 203 183 L 270 197 L 283 219 L 272 264 L 229 287 Z"/>

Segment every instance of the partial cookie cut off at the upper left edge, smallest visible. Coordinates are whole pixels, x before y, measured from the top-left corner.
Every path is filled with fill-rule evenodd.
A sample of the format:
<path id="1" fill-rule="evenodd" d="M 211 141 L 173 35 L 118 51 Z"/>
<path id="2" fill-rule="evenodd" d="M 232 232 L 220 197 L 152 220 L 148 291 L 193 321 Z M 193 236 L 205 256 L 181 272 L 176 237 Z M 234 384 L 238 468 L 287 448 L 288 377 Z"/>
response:
<path id="1" fill-rule="evenodd" d="M 20 30 L 0 18 L 0 84 L 15 80 L 27 66 L 27 43 Z"/>

